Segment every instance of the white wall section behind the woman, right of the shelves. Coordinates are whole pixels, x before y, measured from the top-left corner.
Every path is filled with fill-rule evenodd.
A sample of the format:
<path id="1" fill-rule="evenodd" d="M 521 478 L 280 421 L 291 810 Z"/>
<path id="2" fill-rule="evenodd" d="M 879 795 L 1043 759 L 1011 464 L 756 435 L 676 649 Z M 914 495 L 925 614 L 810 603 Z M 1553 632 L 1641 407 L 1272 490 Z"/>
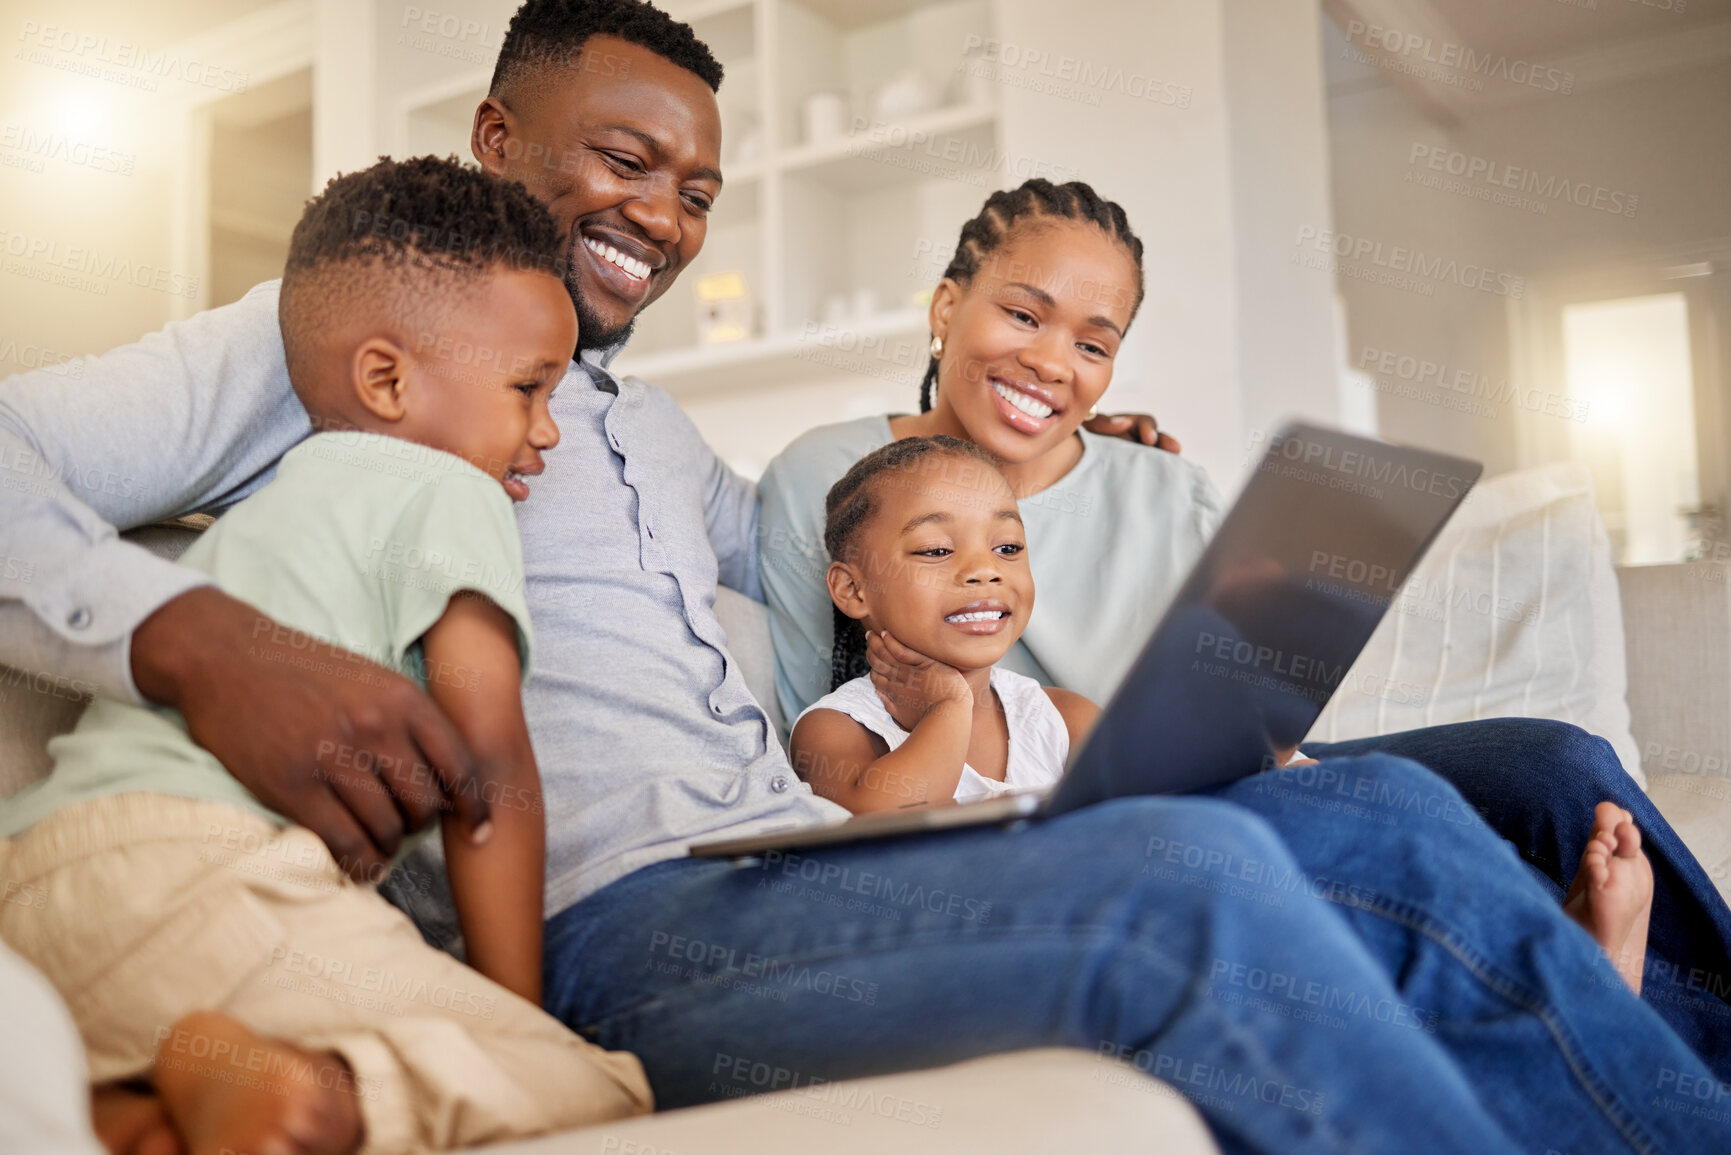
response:
<path id="1" fill-rule="evenodd" d="M 1316 7 L 1113 0 L 1077 19 L 1001 0 L 999 21 L 1006 43 L 1187 90 L 1187 107 L 1006 90 L 1006 151 L 1071 165 L 1125 206 L 1148 298 L 1103 409 L 1153 412 L 1231 490 L 1252 431 L 1338 416 L 1333 286 L 1290 268 L 1279 242 L 1329 218 Z"/>

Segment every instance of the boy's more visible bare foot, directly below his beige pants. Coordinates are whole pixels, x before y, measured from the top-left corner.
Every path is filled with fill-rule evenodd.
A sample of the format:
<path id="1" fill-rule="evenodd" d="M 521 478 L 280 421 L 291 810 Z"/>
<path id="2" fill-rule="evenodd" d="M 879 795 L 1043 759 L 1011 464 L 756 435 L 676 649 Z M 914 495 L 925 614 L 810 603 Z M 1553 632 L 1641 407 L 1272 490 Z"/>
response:
<path id="1" fill-rule="evenodd" d="M 156 1048 L 152 1079 L 189 1155 L 350 1155 L 355 1075 L 329 1051 L 265 1039 L 227 1015 L 187 1015 Z"/>

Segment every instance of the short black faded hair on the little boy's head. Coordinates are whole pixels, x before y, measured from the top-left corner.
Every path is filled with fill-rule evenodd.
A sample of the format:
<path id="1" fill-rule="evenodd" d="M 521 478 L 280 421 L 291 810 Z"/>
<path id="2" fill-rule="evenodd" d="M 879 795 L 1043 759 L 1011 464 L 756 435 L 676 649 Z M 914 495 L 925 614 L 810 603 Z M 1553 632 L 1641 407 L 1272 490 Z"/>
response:
<path id="1" fill-rule="evenodd" d="M 301 402 L 317 384 L 317 346 L 341 322 L 379 315 L 431 332 L 495 268 L 564 279 L 559 225 L 521 182 L 436 156 L 381 156 L 332 178 L 294 225 L 277 301 Z"/>

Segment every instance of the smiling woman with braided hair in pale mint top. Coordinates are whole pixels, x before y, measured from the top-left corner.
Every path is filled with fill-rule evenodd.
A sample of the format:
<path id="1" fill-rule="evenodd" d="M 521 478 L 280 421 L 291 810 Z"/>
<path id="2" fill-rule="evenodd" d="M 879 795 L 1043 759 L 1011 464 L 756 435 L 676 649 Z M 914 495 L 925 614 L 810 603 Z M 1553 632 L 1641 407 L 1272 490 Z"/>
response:
<path id="1" fill-rule="evenodd" d="M 831 689 L 817 495 L 909 436 L 978 445 L 1016 495 L 1040 610 L 999 665 L 1111 696 L 1222 511 L 1189 461 L 1082 428 L 1142 300 L 1141 255 L 1123 210 L 1084 184 L 994 192 L 931 298 L 924 412 L 822 426 L 770 462 L 758 552 L 784 717 Z"/>

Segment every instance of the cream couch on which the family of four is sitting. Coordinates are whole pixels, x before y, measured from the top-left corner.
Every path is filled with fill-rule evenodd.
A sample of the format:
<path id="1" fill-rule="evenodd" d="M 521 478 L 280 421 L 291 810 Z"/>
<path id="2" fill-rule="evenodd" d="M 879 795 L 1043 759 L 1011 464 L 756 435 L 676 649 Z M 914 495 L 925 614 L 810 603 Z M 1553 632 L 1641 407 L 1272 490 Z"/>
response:
<path id="1" fill-rule="evenodd" d="M 192 532 L 158 526 L 133 537 L 175 556 Z M 1497 526 L 1494 539 L 1506 537 Z M 1579 558 L 1565 568 L 1579 575 L 1594 561 L 1603 559 Z M 1612 629 L 1622 642 L 1627 726 L 1646 767 L 1650 795 L 1722 890 L 1731 880 L 1728 577 L 1724 565 L 1708 563 L 1617 570 L 1617 596 L 1608 604 L 1599 599 L 1596 620 L 1598 629 Z M 746 682 L 779 724 L 763 606 L 722 590 L 717 613 Z M 1599 646 L 1599 653 L 1608 648 Z M 1622 696 L 1620 684 L 1613 689 Z M 76 694 L 50 681 L 0 667 L 0 797 L 47 771 L 43 743 L 69 729 L 81 708 Z M 885 1108 L 905 1103 L 926 1105 L 919 1115 L 930 1122 L 935 1113 L 936 1126 L 911 1122 L 912 1112 L 898 1107 Z M 1087 1051 L 1039 1049 L 775 1091 L 495 1150 L 512 1155 L 1052 1152 L 1142 1148 L 1156 1138 L 1162 1150 L 1179 1155 L 1215 1152 L 1194 1110 L 1167 1084 Z"/>

